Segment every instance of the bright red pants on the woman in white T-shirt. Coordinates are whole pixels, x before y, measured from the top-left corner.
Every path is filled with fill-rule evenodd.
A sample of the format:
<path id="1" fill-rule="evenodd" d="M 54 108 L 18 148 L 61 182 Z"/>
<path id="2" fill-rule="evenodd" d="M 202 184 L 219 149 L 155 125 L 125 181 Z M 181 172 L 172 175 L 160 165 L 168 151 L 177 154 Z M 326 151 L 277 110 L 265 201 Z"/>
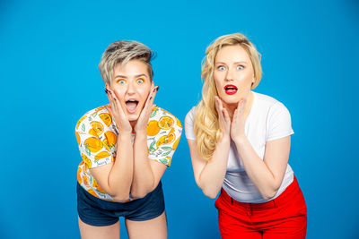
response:
<path id="1" fill-rule="evenodd" d="M 264 203 L 235 201 L 222 189 L 215 208 L 223 239 L 297 239 L 306 235 L 307 207 L 295 177 L 285 192 Z"/>

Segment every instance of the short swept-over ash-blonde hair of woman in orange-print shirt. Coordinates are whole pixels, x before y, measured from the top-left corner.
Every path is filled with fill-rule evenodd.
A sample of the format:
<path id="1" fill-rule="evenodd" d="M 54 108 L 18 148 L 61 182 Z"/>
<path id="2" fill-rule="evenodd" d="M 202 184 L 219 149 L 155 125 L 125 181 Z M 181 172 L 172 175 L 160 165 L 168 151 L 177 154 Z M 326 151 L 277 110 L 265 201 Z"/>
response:
<path id="1" fill-rule="evenodd" d="M 153 60 L 154 52 L 143 43 L 136 40 L 119 40 L 109 44 L 105 52 L 102 54 L 99 69 L 102 81 L 110 84 L 113 70 L 116 65 L 127 64 L 130 60 L 140 60 L 147 64 L 148 73 L 151 81 L 153 79 L 153 69 L 151 60 Z"/>

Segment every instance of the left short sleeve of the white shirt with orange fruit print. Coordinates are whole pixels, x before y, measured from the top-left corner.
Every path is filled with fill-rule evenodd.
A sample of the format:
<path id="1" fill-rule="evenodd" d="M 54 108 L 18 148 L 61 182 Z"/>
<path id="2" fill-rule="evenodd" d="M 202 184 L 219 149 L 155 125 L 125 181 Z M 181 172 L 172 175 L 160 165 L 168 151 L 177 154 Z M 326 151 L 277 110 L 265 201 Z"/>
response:
<path id="1" fill-rule="evenodd" d="M 90 122 L 89 118 L 85 117 L 75 128 L 80 154 L 88 168 L 104 166 L 113 161 L 107 140 L 101 141 L 98 135 L 100 124 L 102 123 Z"/>

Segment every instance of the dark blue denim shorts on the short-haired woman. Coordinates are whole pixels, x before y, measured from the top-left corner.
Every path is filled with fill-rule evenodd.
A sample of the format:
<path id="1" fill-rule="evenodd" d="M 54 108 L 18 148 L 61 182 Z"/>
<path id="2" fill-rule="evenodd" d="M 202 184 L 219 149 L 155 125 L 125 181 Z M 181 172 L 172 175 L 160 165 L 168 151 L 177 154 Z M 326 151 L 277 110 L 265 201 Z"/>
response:
<path id="1" fill-rule="evenodd" d="M 77 183 L 77 212 L 81 220 L 91 226 L 109 226 L 118 222 L 118 217 L 133 221 L 145 221 L 157 218 L 164 211 L 162 183 L 153 192 L 142 199 L 116 202 L 105 201 L 89 192 Z"/>

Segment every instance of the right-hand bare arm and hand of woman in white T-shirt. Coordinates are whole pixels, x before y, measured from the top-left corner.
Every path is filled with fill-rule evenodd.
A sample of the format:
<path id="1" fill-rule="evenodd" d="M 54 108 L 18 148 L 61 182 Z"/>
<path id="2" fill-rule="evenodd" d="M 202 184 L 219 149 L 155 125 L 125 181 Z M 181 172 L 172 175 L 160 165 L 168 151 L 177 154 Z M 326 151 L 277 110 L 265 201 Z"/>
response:
<path id="1" fill-rule="evenodd" d="M 232 119 L 231 137 L 240 154 L 243 166 L 263 199 L 273 198 L 285 176 L 291 147 L 291 136 L 267 141 L 264 160 L 258 157 L 244 133 L 245 120 L 242 117 L 245 102 L 240 101 Z"/>

